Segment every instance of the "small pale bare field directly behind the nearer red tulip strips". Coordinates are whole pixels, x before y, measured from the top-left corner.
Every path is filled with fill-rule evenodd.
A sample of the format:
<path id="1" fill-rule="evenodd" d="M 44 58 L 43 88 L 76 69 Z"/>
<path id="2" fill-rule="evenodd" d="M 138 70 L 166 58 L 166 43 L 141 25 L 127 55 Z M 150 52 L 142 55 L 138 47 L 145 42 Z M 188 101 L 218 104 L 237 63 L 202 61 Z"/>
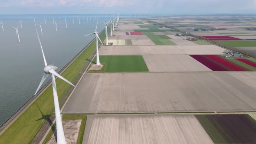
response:
<path id="1" fill-rule="evenodd" d="M 215 45 L 176 46 L 188 55 L 220 55 L 225 49 Z"/>

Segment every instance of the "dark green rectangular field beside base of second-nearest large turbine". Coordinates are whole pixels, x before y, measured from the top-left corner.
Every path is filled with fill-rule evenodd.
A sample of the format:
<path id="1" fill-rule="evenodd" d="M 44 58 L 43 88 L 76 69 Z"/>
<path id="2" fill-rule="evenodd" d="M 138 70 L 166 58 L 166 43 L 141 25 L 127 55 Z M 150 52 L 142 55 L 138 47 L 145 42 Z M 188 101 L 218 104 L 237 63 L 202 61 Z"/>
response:
<path id="1" fill-rule="evenodd" d="M 104 72 L 148 72 L 142 56 L 99 56 L 99 59 L 105 65 Z"/>

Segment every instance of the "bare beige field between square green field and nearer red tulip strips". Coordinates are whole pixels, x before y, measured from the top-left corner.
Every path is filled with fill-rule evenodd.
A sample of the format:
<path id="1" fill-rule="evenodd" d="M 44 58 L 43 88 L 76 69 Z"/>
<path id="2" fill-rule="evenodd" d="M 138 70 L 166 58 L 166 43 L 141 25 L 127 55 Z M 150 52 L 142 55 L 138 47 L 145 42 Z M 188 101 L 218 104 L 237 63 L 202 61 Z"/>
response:
<path id="1" fill-rule="evenodd" d="M 188 55 L 145 55 L 149 72 L 209 72 L 212 71 Z"/>

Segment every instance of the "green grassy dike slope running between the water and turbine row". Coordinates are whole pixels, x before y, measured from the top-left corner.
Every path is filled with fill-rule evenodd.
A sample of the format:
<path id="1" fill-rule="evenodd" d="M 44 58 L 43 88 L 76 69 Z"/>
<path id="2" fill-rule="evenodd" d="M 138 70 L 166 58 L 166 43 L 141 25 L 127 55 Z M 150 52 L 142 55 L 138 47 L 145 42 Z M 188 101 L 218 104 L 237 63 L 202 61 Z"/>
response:
<path id="1" fill-rule="evenodd" d="M 105 30 L 100 34 L 102 41 L 105 39 Z M 71 65 L 62 73 L 62 76 L 73 82 L 79 74 L 86 59 L 93 54 L 96 49 L 96 41 L 94 40 L 81 55 L 72 62 Z M 39 49 L 38 49 L 39 50 Z M 39 82 L 38 82 L 39 83 Z M 56 79 L 57 92 L 59 99 L 62 98 L 70 85 L 61 79 Z M 13 124 L 0 136 L 0 144 L 29 144 L 36 136 L 39 129 L 43 126 L 46 120 L 41 121 L 41 112 L 44 115 L 51 115 L 54 109 L 53 105 L 53 90 L 50 85 L 36 101 L 22 114 Z"/>

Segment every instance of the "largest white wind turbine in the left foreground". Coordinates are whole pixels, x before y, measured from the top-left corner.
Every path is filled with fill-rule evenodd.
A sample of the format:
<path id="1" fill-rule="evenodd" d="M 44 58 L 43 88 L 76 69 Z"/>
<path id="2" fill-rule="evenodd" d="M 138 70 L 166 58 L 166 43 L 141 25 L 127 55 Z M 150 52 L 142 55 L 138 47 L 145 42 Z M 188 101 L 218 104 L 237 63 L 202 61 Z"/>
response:
<path id="1" fill-rule="evenodd" d="M 43 78 L 41 79 L 41 82 L 39 83 L 39 86 L 36 89 L 36 93 L 38 92 L 39 88 L 41 87 L 43 82 L 46 80 L 46 78 L 51 74 L 52 85 L 53 85 L 53 101 L 54 101 L 54 110 L 55 110 L 55 118 L 56 118 L 56 129 L 57 129 L 57 143 L 58 144 L 66 144 L 66 139 L 65 139 L 65 135 L 64 135 L 64 131 L 63 131 L 63 126 L 62 126 L 61 114 L 60 114 L 60 110 L 59 110 L 59 100 L 58 100 L 55 76 L 58 77 L 59 79 L 64 80 L 65 82 L 69 83 L 72 86 L 74 86 L 74 85 L 56 72 L 56 70 L 58 69 L 56 66 L 47 65 L 46 58 L 43 53 L 43 47 L 42 47 L 37 29 L 36 29 L 36 35 L 37 35 L 37 38 L 38 38 L 38 41 L 40 44 L 40 48 L 42 50 L 43 61 L 44 61 L 44 65 L 45 65 L 45 67 L 43 69 L 43 71 L 44 71 Z M 35 95 L 36 95 L 36 93 L 35 93 Z"/>

